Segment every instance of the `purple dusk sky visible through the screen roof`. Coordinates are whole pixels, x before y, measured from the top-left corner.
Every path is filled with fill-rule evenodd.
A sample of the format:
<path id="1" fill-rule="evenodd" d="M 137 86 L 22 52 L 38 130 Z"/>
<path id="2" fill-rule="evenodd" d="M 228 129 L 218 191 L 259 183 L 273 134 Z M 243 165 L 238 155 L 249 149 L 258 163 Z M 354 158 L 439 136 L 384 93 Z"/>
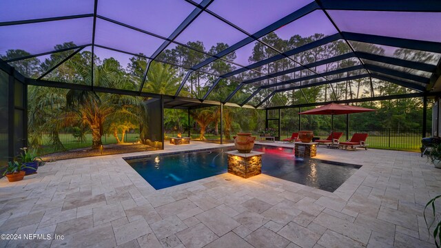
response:
<path id="1" fill-rule="evenodd" d="M 214 0 L 208 7 L 246 32 L 254 33 L 274 23 L 310 3 L 310 0 Z M 93 12 L 93 0 L 43 0 L 43 1 L 3 1 L 0 21 L 17 21 L 47 17 L 61 17 L 72 14 Z M 194 10 L 194 6 L 184 0 L 100 0 L 98 14 L 127 23 L 136 28 L 168 37 L 175 28 Z M 421 39 L 441 42 L 440 13 L 416 12 L 367 12 L 329 11 L 340 30 L 378 34 L 407 39 Z M 64 21 L 50 21 L 25 25 L 0 27 L 0 55 L 6 50 L 22 49 L 31 54 L 48 52 L 54 45 L 73 41 L 76 45 L 92 43 L 92 17 Z M 321 33 L 325 36 L 337 32 L 322 10 L 316 10 L 275 31 L 278 37 L 289 39 L 295 34 L 308 37 Z M 202 41 L 205 49 L 223 42 L 229 45 L 245 39 L 247 34 L 203 12 L 176 38 L 176 41 Z M 150 56 L 163 43 L 163 39 L 143 34 L 102 19 L 96 21 L 95 43 L 110 48 Z M 171 44 L 169 48 L 175 47 Z M 236 51 L 240 65 L 249 65 L 254 43 Z M 394 49 L 388 49 L 393 54 Z M 119 54 L 105 49 L 96 49 L 101 59 L 113 56 L 124 67 L 130 55 Z"/>

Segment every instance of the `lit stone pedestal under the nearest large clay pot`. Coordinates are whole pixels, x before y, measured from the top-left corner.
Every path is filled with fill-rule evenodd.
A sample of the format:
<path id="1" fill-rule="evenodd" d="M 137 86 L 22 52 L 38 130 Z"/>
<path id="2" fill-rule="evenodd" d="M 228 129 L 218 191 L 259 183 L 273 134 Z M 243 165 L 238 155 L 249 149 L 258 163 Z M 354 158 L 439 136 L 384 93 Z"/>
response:
<path id="1" fill-rule="evenodd" d="M 228 172 L 243 178 L 262 173 L 262 155 L 249 157 L 228 154 Z"/>

